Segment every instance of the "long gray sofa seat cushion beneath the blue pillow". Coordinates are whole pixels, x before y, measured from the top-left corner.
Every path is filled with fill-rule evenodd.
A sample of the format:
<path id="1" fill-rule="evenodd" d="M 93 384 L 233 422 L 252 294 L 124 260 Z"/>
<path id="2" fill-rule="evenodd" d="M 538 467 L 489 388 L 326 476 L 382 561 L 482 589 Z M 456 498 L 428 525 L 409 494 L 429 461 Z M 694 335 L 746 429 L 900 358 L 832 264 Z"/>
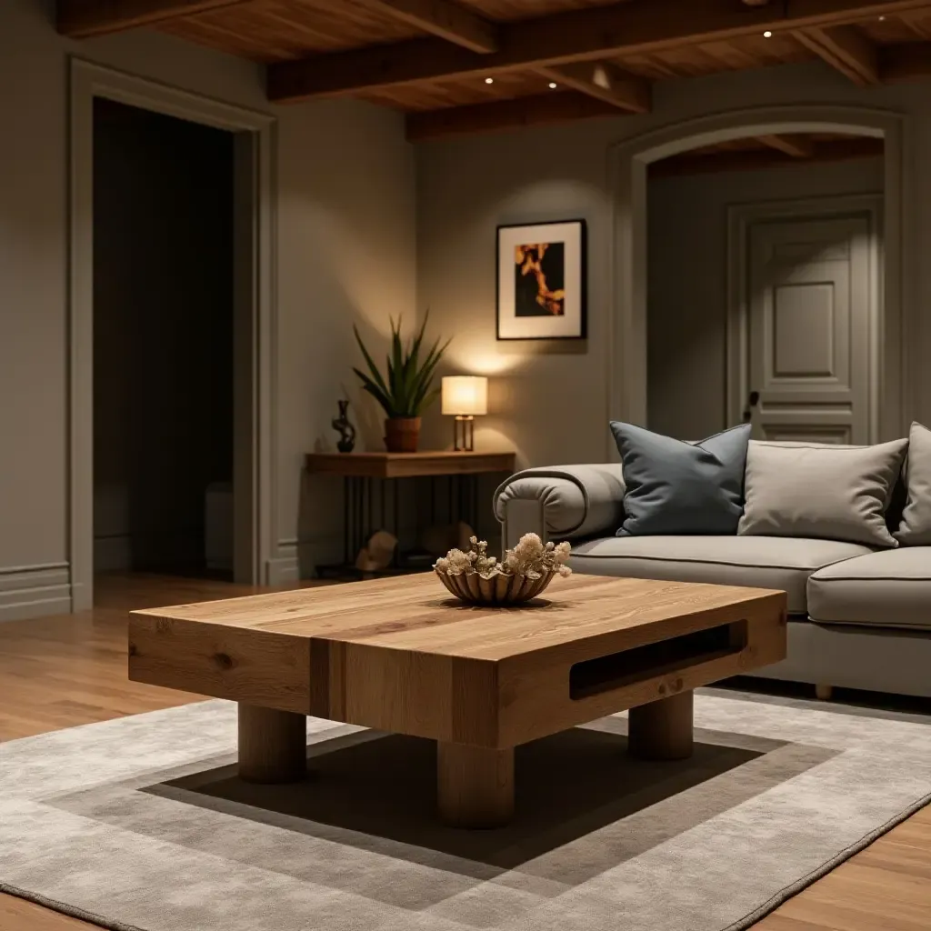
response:
<path id="1" fill-rule="evenodd" d="M 627 536 L 573 546 L 570 565 L 593 575 L 780 588 L 789 594 L 789 614 L 807 614 L 811 573 L 870 552 L 853 543 L 778 536 Z"/>

